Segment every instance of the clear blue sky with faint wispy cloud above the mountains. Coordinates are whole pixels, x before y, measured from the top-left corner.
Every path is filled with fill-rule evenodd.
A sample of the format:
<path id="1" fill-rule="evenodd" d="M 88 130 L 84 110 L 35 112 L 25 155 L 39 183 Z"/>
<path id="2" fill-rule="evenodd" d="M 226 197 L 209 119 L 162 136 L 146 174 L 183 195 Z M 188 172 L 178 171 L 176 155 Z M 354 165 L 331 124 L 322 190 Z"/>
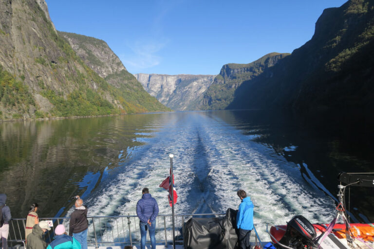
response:
<path id="1" fill-rule="evenodd" d="M 292 53 L 345 0 L 46 0 L 56 29 L 106 41 L 131 73 L 218 74 Z"/>

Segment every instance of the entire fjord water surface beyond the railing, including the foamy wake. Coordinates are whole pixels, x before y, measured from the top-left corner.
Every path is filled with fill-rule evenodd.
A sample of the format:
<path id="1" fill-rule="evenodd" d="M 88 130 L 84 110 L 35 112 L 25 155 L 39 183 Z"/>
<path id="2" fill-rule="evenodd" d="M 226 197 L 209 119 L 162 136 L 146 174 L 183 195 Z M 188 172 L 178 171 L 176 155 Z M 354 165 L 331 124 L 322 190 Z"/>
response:
<path id="1" fill-rule="evenodd" d="M 302 214 L 330 222 L 337 174 L 372 169 L 372 123 L 342 115 L 208 111 L 0 124 L 0 192 L 14 217 L 37 202 L 39 216 L 64 215 L 80 195 L 89 215 L 135 214 L 144 187 L 171 213 L 237 209 L 238 189 L 255 205 L 255 224 L 285 224 Z M 370 189 L 351 190 L 355 221 L 373 220 Z M 362 198 L 367 195 L 368 197 Z"/>

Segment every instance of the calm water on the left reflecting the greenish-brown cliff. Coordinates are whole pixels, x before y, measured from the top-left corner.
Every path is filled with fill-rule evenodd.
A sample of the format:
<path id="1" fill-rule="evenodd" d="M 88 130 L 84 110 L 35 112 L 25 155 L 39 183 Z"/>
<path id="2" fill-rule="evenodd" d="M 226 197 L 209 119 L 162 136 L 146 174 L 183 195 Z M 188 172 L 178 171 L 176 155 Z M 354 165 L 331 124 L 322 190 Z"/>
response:
<path id="1" fill-rule="evenodd" d="M 0 123 L 0 192 L 14 217 L 37 202 L 40 216 L 70 206 L 90 191 L 105 169 L 119 165 L 140 146 L 157 114 Z M 87 192 L 86 192 L 87 193 Z M 63 212 L 59 212 L 63 213 Z"/>

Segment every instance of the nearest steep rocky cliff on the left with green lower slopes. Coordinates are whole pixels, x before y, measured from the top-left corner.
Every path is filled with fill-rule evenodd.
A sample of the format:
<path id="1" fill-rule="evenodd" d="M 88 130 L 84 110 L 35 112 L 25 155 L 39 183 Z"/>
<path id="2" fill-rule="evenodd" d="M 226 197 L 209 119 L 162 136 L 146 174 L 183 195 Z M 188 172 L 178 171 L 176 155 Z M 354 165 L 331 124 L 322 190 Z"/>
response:
<path id="1" fill-rule="evenodd" d="M 44 0 L 3 0 L 0 12 L 0 120 L 167 110 L 148 94 L 143 106 L 144 93 L 87 66 L 56 32 Z"/>

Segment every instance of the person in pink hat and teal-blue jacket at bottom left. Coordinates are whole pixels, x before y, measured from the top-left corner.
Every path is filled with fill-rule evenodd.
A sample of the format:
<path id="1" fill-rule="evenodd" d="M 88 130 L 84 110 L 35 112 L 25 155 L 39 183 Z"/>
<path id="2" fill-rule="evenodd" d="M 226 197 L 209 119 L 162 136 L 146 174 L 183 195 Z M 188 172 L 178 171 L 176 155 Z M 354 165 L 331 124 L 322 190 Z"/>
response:
<path id="1" fill-rule="evenodd" d="M 55 234 L 55 240 L 49 244 L 47 249 L 81 249 L 79 242 L 66 233 L 64 225 L 58 225 Z"/>

